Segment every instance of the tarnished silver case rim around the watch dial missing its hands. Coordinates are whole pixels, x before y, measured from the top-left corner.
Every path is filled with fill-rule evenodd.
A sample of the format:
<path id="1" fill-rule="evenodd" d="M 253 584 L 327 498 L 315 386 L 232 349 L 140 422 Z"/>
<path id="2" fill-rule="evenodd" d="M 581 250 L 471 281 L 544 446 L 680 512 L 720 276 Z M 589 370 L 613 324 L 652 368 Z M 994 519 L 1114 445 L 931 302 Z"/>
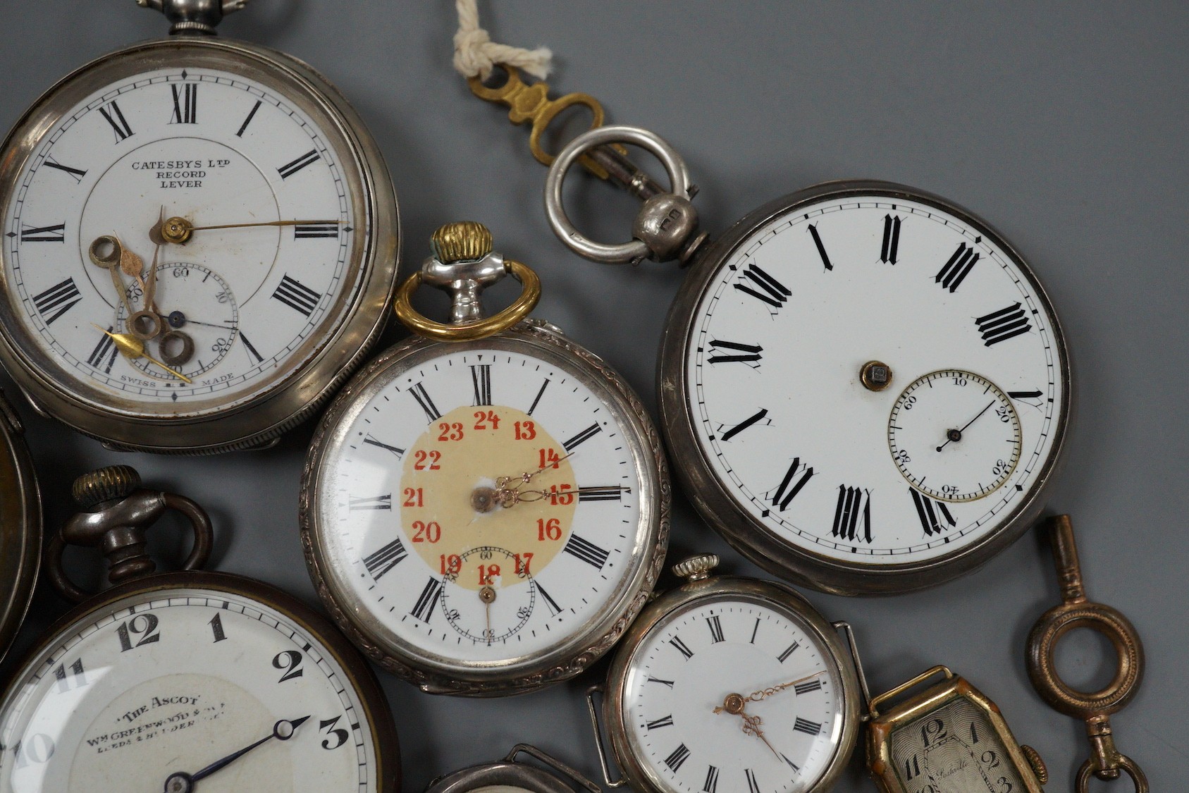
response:
<path id="1" fill-rule="evenodd" d="M 757 228 L 780 215 L 793 214 L 803 206 L 823 200 L 850 196 L 900 199 L 933 206 L 960 218 L 990 239 L 1020 270 L 1048 313 L 1049 332 L 1059 359 L 1061 410 L 1051 430 L 1051 449 L 1032 485 L 1013 509 L 1005 510 L 998 528 L 980 540 L 933 559 L 898 565 L 847 561 L 813 553 L 776 535 L 770 527 L 740 506 L 731 489 L 715 476 L 706 451 L 698 442 L 692 395 L 686 392 L 690 375 L 687 348 L 696 334 L 694 313 L 706 289 L 737 247 Z M 940 196 L 904 184 L 872 180 L 825 182 L 769 201 L 744 215 L 702 254 L 669 308 L 661 338 L 658 394 L 666 442 L 674 458 L 682 460 L 682 465 L 677 467 L 678 479 L 711 527 L 762 569 L 803 586 L 844 596 L 892 594 L 937 586 L 974 571 L 1015 542 L 1044 508 L 1043 497 L 1063 460 L 1075 404 L 1072 365 L 1061 321 L 1040 281 L 1014 246 L 984 220 Z"/>

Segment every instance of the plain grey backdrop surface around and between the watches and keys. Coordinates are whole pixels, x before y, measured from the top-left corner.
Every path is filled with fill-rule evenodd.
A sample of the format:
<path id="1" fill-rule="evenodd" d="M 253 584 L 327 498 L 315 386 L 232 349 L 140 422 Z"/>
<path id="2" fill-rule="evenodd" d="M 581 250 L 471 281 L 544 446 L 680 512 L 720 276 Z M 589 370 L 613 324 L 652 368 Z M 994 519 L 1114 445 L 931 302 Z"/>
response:
<path id="1" fill-rule="evenodd" d="M 1144 638 L 1143 688 L 1113 724 L 1153 789 L 1174 789 L 1189 757 L 1178 718 L 1189 704 L 1187 7 L 487 0 L 480 12 L 496 40 L 553 48 L 559 92 L 591 93 L 612 121 L 665 136 L 702 187 L 697 206 L 711 232 L 811 183 L 874 177 L 944 195 L 1014 243 L 1046 285 L 1076 365 L 1080 414 L 1049 511 L 1074 515 L 1089 594 L 1130 616 Z M 498 250 L 540 272 L 536 315 L 606 357 L 652 404 L 656 342 L 681 275 L 654 264 L 600 268 L 553 238 L 541 208 L 545 169 L 529 157 L 527 130 L 474 99 L 451 68 L 455 25 L 448 1 L 257 0 L 222 32 L 307 59 L 360 111 L 396 183 L 403 271 L 438 225 L 486 222 Z M 7 128 L 67 71 L 163 34 L 164 21 L 132 0 L 4 0 L 0 31 Z M 579 225 L 608 241 L 624 238 L 633 202 L 603 184 L 575 184 Z M 386 339 L 401 335 L 390 329 Z M 165 459 L 108 453 L 20 409 L 49 525 L 68 515 L 75 476 L 131 462 L 214 515 L 218 568 L 314 602 L 296 529 L 310 427 L 268 452 Z M 703 549 L 722 554 L 728 571 L 757 572 L 679 497 L 671 558 Z M 1082 726 L 1044 705 L 1024 669 L 1027 630 L 1058 599 L 1034 534 L 931 591 L 809 597 L 855 625 L 873 688 L 946 663 L 1040 751 L 1049 789 L 1071 787 L 1088 751 Z M 19 647 L 64 610 L 39 587 Z M 1061 663 L 1071 682 L 1111 673 L 1103 644 L 1093 634 L 1067 640 Z M 496 701 L 434 698 L 384 675 L 405 788 L 496 760 L 520 741 L 597 774 L 581 694 L 602 669 Z M 837 789 L 873 789 L 857 757 Z"/>

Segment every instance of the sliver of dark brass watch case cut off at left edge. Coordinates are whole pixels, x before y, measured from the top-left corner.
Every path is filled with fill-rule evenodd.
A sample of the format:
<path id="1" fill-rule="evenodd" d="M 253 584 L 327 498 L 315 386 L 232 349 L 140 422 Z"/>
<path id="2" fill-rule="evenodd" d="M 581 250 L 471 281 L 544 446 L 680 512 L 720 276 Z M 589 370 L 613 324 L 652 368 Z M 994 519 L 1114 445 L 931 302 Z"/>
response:
<path id="1" fill-rule="evenodd" d="M 29 610 L 42 558 L 42 501 L 23 435 L 0 391 L 0 659 Z"/>

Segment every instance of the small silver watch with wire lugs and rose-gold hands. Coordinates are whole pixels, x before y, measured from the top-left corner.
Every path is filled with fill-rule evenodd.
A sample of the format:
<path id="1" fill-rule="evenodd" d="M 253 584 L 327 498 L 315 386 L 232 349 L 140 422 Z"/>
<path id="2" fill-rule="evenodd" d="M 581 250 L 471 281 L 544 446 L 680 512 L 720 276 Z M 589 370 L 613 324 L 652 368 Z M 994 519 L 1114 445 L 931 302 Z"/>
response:
<path id="1" fill-rule="evenodd" d="M 688 581 L 649 604 L 611 662 L 603 723 L 623 780 L 647 793 L 824 793 L 860 722 L 835 631 L 849 627 L 786 585 L 709 578 L 717 562 L 677 565 Z"/>

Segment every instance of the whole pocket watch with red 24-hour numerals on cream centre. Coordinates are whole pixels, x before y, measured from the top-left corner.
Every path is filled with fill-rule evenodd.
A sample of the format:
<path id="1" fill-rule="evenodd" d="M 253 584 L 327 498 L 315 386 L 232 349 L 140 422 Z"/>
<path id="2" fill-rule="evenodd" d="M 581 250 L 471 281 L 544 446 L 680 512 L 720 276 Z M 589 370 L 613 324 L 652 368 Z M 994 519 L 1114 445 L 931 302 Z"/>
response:
<path id="1" fill-rule="evenodd" d="M 483 317 L 480 291 L 524 290 Z M 411 309 L 421 283 L 453 321 Z M 396 295 L 419 335 L 352 379 L 302 482 L 306 559 L 340 627 L 433 693 L 499 696 L 586 668 L 655 584 L 668 540 L 660 439 L 630 386 L 553 326 L 479 224 L 434 234 Z"/>

